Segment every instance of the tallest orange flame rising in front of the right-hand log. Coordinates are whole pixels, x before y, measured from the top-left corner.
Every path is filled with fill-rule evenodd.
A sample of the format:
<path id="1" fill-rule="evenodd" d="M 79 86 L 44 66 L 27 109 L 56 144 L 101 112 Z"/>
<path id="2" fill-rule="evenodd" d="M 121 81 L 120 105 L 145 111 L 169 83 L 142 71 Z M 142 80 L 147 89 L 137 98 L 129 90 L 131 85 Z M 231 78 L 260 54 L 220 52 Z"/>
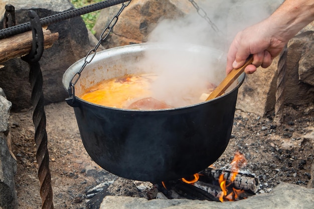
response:
<path id="1" fill-rule="evenodd" d="M 227 180 L 224 178 L 224 172 L 219 176 L 219 184 L 220 188 L 222 190 L 219 200 L 221 202 L 228 200 L 228 201 L 234 201 L 235 199 L 238 198 L 239 194 L 242 193 L 243 191 L 241 189 L 235 189 L 232 188 L 233 191 L 228 194 L 227 187 L 232 184 L 232 182 L 235 180 L 237 174 L 239 173 L 239 169 L 243 167 L 246 163 L 245 156 L 241 154 L 240 152 L 236 152 L 232 162 L 230 163 L 231 165 L 231 177 L 230 177 L 230 183 L 226 185 Z"/>

